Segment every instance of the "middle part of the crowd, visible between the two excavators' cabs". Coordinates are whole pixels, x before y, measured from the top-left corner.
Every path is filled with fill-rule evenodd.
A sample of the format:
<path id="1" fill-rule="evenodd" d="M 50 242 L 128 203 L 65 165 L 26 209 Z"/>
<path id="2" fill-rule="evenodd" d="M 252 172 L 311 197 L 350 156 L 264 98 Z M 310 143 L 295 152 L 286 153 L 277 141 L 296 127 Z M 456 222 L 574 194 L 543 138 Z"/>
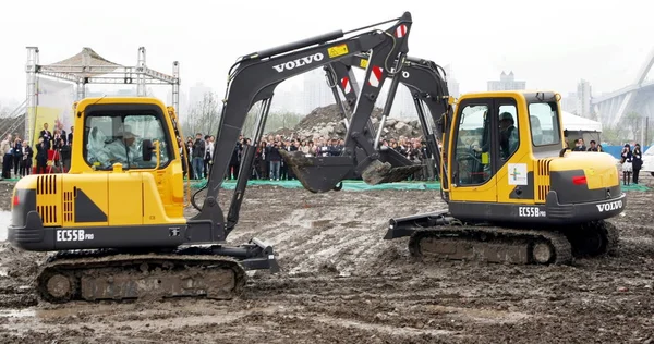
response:
<path id="1" fill-rule="evenodd" d="M 189 157 L 189 177 L 192 180 L 206 179 L 210 173 L 211 159 L 214 157 L 215 137 L 197 133 L 195 138 L 186 138 L 186 156 Z M 229 162 L 229 169 L 225 174 L 226 180 L 239 177 L 241 160 L 245 146 L 252 146 L 250 138 L 240 135 L 234 145 Z M 289 169 L 281 157 L 280 150 L 301 151 L 306 157 L 332 157 L 340 156 L 344 147 L 341 138 L 317 137 L 315 142 L 306 137 L 283 137 L 282 135 L 268 135 L 255 147 L 254 163 L 250 171 L 252 180 L 291 181 L 295 180 L 292 169 Z M 413 181 L 435 181 L 435 165 L 432 152 L 419 138 L 400 137 L 382 142 L 382 148 L 395 149 L 410 161 L 422 164 L 423 169 L 409 177 Z"/>

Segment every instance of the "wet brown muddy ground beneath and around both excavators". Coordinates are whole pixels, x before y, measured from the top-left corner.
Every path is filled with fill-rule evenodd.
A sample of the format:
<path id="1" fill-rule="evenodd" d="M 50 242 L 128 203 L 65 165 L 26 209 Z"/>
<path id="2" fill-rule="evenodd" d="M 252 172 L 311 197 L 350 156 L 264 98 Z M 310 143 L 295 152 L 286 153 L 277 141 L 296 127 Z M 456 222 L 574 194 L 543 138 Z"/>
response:
<path id="1" fill-rule="evenodd" d="M 652 187 L 651 177 L 645 182 Z M 572 266 L 414 261 L 388 217 L 437 192 L 251 187 L 230 241 L 275 245 L 230 302 L 37 303 L 43 255 L 1 244 L 2 343 L 654 343 L 653 192 L 630 192 L 616 257 Z"/>

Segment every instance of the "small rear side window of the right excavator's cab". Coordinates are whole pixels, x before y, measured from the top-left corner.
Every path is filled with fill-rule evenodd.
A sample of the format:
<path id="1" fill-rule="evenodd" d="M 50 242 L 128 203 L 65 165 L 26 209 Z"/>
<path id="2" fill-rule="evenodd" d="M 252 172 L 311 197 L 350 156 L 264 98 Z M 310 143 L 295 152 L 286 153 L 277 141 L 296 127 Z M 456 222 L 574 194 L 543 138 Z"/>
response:
<path id="1" fill-rule="evenodd" d="M 561 134 L 556 102 L 530 103 L 529 121 L 534 146 L 560 144 Z"/>

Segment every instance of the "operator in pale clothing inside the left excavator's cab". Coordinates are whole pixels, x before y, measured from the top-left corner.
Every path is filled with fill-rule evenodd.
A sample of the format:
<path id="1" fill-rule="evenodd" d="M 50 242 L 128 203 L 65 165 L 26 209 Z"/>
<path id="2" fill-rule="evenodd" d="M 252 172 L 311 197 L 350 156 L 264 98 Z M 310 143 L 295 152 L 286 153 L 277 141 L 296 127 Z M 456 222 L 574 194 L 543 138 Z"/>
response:
<path id="1" fill-rule="evenodd" d="M 122 163 L 124 168 L 138 168 L 143 163 L 138 148 L 134 144 L 137 135 L 130 125 L 121 124 L 116 133 L 116 139 L 105 146 L 98 155 L 98 160 L 105 168 Z"/>

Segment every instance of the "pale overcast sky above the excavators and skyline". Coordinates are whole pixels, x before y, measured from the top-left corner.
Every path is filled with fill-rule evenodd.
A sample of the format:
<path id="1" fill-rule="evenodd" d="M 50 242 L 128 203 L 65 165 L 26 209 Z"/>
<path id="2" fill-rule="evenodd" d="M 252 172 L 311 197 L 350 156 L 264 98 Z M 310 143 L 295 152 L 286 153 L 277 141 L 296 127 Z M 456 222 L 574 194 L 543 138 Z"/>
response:
<path id="1" fill-rule="evenodd" d="M 327 33 L 413 15 L 410 56 L 451 64 L 462 93 L 513 71 L 528 88 L 593 93 L 627 86 L 654 48 L 644 0 L 620 1 L 12 1 L 0 11 L 0 102 L 25 99 L 26 46 L 41 64 L 90 47 L 108 60 L 170 73 L 182 90 L 198 82 L 222 95 L 242 54 Z M 157 94 L 169 91 L 157 86 Z M 165 95 L 164 93 L 164 95 Z"/>

